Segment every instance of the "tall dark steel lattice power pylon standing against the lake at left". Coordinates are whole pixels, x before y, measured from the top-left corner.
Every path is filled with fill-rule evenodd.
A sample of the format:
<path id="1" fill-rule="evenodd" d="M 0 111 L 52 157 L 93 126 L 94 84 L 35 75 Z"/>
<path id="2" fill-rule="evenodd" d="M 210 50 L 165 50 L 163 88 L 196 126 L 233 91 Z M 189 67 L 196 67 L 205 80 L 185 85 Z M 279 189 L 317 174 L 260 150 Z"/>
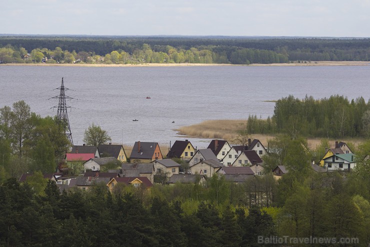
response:
<path id="1" fill-rule="evenodd" d="M 63 128 L 65 136 L 68 138 L 70 144 L 73 145 L 72 139 L 72 132 L 70 131 L 69 119 L 68 119 L 68 108 L 71 108 L 65 103 L 65 99 L 73 99 L 69 96 L 65 95 L 65 90 L 69 90 L 68 88 L 64 87 L 63 78 L 61 78 L 61 86 L 56 88 L 60 89 L 59 96 L 52 97 L 51 99 L 59 99 L 58 106 L 54 106 L 54 108 L 58 108 L 58 112 L 56 113 L 56 118 L 59 124 L 59 127 Z"/>

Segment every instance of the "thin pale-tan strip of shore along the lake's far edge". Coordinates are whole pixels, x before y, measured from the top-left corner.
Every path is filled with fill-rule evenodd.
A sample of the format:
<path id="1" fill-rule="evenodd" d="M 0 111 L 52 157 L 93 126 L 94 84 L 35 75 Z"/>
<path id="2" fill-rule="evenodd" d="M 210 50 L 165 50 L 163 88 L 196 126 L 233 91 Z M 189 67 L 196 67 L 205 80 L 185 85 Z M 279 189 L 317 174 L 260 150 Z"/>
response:
<path id="1" fill-rule="evenodd" d="M 283 64 L 1 64 L 0 66 L 61 66 L 61 67 L 184 67 L 184 66 L 369 66 L 370 62 L 363 61 L 311 61 L 307 63 Z"/>

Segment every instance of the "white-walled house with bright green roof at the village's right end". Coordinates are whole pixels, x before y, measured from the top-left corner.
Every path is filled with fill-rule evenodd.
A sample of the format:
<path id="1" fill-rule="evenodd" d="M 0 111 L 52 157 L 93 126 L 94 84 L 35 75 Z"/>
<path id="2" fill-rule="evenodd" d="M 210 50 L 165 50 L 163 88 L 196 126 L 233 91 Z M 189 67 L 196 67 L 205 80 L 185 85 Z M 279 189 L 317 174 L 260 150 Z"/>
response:
<path id="1" fill-rule="evenodd" d="M 350 169 L 353 169 L 356 166 L 354 157 L 355 155 L 352 153 L 334 154 L 323 160 L 323 168 L 327 171 L 350 171 Z"/>

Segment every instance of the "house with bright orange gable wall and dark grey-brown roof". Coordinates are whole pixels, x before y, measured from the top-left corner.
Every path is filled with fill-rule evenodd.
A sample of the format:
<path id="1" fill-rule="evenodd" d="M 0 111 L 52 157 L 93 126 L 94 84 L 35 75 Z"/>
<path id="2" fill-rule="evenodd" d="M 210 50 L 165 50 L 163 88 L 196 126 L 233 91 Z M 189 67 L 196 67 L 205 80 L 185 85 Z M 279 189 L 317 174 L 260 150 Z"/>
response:
<path id="1" fill-rule="evenodd" d="M 163 156 L 157 142 L 136 141 L 131 151 L 130 162 L 150 163 L 153 160 L 162 158 Z"/>

